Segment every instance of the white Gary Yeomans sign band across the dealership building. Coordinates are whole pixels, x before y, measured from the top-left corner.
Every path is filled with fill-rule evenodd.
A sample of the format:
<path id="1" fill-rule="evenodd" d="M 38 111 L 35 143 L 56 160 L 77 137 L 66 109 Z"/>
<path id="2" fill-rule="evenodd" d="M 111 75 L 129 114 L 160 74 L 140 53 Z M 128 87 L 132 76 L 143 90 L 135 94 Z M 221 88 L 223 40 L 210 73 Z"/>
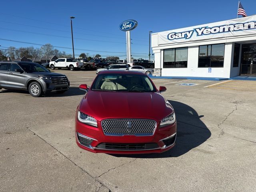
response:
<path id="1" fill-rule="evenodd" d="M 227 20 L 158 33 L 158 45 L 256 33 L 256 16 Z"/>

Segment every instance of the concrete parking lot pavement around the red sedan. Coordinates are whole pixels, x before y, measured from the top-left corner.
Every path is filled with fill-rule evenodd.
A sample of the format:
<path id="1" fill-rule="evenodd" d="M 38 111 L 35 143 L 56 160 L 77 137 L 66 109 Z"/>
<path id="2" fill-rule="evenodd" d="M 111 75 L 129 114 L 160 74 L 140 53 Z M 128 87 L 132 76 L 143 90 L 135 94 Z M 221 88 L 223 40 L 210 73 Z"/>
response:
<path id="1" fill-rule="evenodd" d="M 76 145 L 78 86 L 95 71 L 55 72 L 68 76 L 68 92 L 0 90 L 0 191 L 256 191 L 255 81 L 152 79 L 174 106 L 176 146 L 124 156 Z"/>

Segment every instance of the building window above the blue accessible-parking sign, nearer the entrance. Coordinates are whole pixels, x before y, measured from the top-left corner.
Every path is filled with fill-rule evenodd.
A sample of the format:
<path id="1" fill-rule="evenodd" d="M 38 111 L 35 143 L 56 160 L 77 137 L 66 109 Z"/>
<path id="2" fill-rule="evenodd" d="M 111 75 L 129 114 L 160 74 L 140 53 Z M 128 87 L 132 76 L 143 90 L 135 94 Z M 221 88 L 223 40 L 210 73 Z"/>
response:
<path id="1" fill-rule="evenodd" d="M 198 67 L 223 67 L 225 44 L 199 46 Z"/>

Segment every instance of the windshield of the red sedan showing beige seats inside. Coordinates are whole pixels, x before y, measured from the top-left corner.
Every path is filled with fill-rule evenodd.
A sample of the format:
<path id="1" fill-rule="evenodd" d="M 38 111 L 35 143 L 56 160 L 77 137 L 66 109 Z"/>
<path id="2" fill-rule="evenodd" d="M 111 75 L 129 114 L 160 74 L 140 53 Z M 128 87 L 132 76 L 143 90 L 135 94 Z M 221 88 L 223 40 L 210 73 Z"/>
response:
<path id="1" fill-rule="evenodd" d="M 92 90 L 156 92 L 150 79 L 138 74 L 98 74 Z"/>

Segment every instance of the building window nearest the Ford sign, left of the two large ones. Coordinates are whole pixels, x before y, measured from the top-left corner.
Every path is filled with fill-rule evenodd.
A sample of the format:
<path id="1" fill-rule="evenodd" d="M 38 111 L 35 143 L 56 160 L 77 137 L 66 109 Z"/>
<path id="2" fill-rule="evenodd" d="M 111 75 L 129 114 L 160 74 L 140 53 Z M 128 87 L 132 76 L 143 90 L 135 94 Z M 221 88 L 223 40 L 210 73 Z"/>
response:
<path id="1" fill-rule="evenodd" d="M 173 48 L 164 50 L 164 68 L 187 68 L 188 48 Z"/>

